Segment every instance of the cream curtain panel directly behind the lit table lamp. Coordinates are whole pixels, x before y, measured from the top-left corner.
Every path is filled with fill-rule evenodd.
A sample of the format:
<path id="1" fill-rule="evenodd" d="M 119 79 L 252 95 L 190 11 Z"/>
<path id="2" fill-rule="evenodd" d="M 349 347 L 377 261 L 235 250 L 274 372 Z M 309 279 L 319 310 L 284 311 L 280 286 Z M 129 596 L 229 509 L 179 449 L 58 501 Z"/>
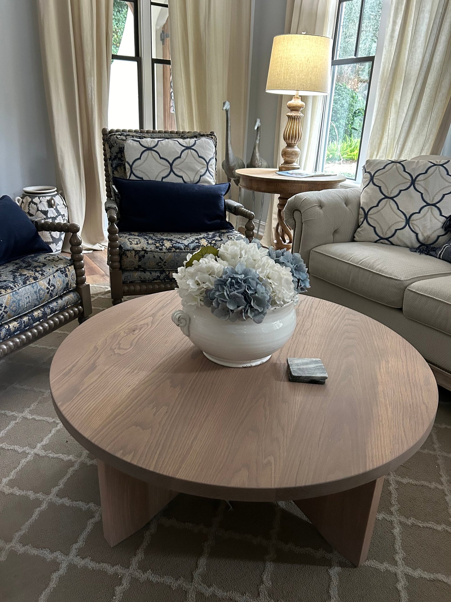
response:
<path id="1" fill-rule="evenodd" d="M 317 36 L 333 37 L 337 16 L 338 0 L 287 0 L 285 15 L 286 34 L 316 34 Z M 278 104 L 278 119 L 276 132 L 278 138 L 274 146 L 274 164 L 281 163 L 280 153 L 285 146 L 283 130 L 286 124 L 287 102 L 290 96 L 280 96 Z M 313 170 L 318 152 L 319 134 L 324 108 L 324 96 L 304 96 L 304 119 L 302 119 L 302 138 L 299 143 L 301 155 L 299 166 L 304 170 Z M 265 246 L 274 240 L 274 227 L 277 223 L 277 197 L 269 202 L 266 228 L 262 243 Z"/>

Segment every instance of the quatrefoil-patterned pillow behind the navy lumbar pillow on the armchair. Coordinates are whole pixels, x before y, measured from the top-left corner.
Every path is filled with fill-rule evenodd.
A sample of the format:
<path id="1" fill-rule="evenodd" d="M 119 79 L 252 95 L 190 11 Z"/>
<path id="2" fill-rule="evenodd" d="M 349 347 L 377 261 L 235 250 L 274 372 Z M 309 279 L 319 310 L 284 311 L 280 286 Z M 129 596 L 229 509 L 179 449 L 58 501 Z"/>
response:
<path id="1" fill-rule="evenodd" d="M 124 154 L 128 179 L 216 184 L 211 138 L 129 138 Z"/>

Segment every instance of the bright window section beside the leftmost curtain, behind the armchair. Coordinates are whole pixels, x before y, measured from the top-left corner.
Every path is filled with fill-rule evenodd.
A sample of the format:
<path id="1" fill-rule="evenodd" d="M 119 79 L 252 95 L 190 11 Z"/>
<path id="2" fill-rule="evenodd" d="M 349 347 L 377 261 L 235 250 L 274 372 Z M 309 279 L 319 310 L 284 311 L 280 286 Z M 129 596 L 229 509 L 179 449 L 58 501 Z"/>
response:
<path id="1" fill-rule="evenodd" d="M 143 127 L 143 72 L 138 5 L 138 0 L 113 2 L 109 128 Z"/>

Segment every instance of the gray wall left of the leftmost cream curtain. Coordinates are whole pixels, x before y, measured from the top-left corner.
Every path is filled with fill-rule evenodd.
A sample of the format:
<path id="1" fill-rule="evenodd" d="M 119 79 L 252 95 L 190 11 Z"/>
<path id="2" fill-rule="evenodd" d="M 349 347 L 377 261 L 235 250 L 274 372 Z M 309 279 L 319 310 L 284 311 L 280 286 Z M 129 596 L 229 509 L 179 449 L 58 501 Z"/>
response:
<path id="1" fill-rule="evenodd" d="M 0 0 L 0 196 L 55 184 L 36 0 Z"/>

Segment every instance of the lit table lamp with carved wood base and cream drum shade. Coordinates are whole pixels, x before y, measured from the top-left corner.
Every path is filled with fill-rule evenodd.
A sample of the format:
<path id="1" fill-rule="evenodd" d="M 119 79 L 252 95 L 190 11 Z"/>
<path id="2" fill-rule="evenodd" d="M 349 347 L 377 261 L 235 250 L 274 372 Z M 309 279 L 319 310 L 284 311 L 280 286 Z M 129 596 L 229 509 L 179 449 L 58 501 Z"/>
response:
<path id="1" fill-rule="evenodd" d="M 282 151 L 280 171 L 299 169 L 301 140 L 301 96 L 321 96 L 330 92 L 332 40 L 324 36 L 286 34 L 272 41 L 266 92 L 292 94 L 287 102 L 288 121 L 283 131 L 286 147 Z"/>

